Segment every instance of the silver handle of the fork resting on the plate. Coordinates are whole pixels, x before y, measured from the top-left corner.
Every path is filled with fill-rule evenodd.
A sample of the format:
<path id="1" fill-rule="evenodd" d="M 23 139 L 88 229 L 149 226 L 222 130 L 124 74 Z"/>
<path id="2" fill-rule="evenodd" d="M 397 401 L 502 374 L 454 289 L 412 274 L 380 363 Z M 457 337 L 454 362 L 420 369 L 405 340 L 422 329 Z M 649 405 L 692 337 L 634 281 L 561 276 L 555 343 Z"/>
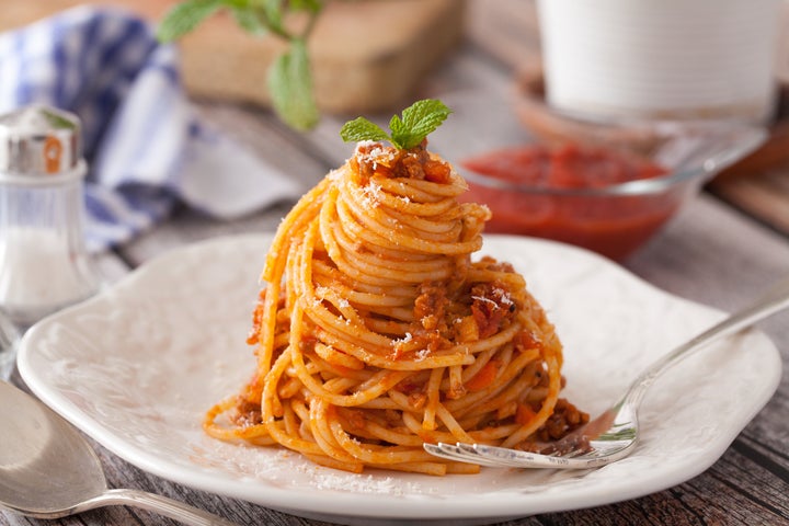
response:
<path id="1" fill-rule="evenodd" d="M 658 376 L 660 376 L 668 367 L 678 364 L 687 356 L 706 347 L 710 343 L 751 327 L 757 321 L 764 320 L 765 318 L 773 316 L 787 307 L 789 307 L 789 278 L 784 278 L 774 284 L 766 294 L 753 301 L 750 306 L 730 315 L 721 322 L 688 340 L 678 347 L 675 347 L 673 351 L 654 362 L 638 378 L 636 378 L 622 398 L 622 401 L 637 405 L 641 402 L 641 399 L 647 393 L 650 386 L 652 386 L 655 378 L 658 378 Z"/>

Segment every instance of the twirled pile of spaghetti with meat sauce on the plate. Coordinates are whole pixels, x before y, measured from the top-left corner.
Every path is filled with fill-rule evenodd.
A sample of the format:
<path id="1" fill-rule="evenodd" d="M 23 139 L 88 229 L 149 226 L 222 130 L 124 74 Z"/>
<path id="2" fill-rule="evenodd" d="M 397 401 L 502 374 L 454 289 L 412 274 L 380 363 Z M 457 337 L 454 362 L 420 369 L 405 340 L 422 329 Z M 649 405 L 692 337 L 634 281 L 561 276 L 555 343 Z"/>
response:
<path id="1" fill-rule="evenodd" d="M 559 398 L 562 347 L 513 267 L 472 261 L 490 217 L 426 141 L 363 141 L 279 226 L 249 342 L 253 378 L 211 408 L 221 439 L 313 461 L 473 472 L 424 442 L 530 448 L 586 415 Z"/>

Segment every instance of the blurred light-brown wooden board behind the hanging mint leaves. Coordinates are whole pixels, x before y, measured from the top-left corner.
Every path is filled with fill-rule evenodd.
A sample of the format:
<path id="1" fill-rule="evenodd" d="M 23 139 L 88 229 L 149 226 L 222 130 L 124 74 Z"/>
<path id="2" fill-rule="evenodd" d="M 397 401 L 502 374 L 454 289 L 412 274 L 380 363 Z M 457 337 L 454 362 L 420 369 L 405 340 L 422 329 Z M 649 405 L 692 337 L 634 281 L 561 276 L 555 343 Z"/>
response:
<path id="1" fill-rule="evenodd" d="M 3 0 L 0 31 L 22 26 L 80 0 Z M 151 21 L 174 0 L 112 0 Z M 331 113 L 401 106 L 420 80 L 462 35 L 465 0 L 329 2 L 309 47 L 316 98 Z M 253 37 L 225 15 L 211 18 L 181 43 L 183 77 L 196 96 L 268 104 L 266 70 L 283 44 Z"/>

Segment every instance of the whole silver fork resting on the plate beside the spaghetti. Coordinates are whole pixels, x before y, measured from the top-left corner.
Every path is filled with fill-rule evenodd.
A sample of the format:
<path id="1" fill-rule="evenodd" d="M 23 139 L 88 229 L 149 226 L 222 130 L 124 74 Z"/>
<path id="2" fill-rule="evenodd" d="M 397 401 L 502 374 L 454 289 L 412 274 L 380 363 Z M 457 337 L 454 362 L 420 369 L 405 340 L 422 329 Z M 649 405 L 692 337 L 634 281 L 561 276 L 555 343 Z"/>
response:
<path id="1" fill-rule="evenodd" d="M 585 426 L 551 444 L 546 454 L 483 444 L 424 444 L 424 449 L 448 460 L 492 467 L 596 468 L 628 456 L 639 438 L 638 409 L 655 378 L 696 351 L 734 334 L 789 307 L 789 279 L 784 279 L 750 307 L 725 318 L 647 367 L 618 401 Z"/>

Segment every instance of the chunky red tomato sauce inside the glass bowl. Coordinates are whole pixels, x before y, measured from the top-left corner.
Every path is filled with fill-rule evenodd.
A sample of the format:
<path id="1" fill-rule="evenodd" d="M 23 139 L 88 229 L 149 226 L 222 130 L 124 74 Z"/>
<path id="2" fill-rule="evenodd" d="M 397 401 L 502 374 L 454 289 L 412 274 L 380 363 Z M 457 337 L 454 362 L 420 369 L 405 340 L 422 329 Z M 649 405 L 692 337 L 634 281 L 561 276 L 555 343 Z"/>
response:
<path id="1" fill-rule="evenodd" d="M 696 190 L 664 184 L 670 171 L 614 149 L 528 145 L 460 163 L 466 198 L 485 203 L 487 231 L 576 244 L 622 260 L 649 240 Z"/>

